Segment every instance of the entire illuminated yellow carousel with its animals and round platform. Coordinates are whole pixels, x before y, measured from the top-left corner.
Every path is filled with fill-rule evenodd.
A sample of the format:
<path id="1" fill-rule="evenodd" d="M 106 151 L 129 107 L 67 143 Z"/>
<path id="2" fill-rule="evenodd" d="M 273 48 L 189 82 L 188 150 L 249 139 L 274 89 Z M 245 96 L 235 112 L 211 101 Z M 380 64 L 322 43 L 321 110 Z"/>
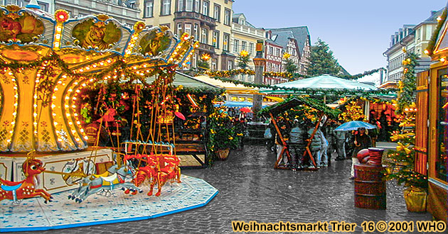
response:
<path id="1" fill-rule="evenodd" d="M 178 114 L 176 67 L 186 65 L 198 43 L 107 15 L 50 15 L 33 2 L 0 6 L 0 231 L 142 220 L 213 199 L 213 186 L 181 176 L 166 121 Z M 147 77 L 155 79 L 149 84 Z M 142 86 L 152 90 L 148 133 L 139 130 L 137 108 L 136 138 L 124 149 L 99 147 L 100 131 L 87 134 L 82 125 L 82 90 L 107 82 L 135 84 L 136 94 Z"/>

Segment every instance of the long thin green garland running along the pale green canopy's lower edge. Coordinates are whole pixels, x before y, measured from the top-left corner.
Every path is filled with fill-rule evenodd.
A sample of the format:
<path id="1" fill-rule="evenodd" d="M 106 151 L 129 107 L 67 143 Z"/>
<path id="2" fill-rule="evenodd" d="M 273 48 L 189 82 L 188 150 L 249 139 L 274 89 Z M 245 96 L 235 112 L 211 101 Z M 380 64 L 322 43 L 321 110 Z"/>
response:
<path id="1" fill-rule="evenodd" d="M 213 79 L 218 79 L 221 82 L 228 82 L 233 84 L 242 84 L 245 87 L 259 88 L 259 89 L 272 89 L 272 90 L 284 90 L 284 91 L 292 91 L 294 94 L 309 94 L 309 95 L 336 95 L 336 96 L 346 96 L 346 95 L 357 95 L 357 96 L 371 96 L 371 95 L 387 95 L 387 94 L 395 94 L 396 89 L 379 89 L 379 90 L 353 90 L 353 89 L 309 89 L 309 88 L 294 88 L 294 87 L 277 87 L 272 86 L 270 84 L 254 84 L 251 82 L 242 82 L 236 79 L 228 79 L 221 77 L 213 77 Z"/>

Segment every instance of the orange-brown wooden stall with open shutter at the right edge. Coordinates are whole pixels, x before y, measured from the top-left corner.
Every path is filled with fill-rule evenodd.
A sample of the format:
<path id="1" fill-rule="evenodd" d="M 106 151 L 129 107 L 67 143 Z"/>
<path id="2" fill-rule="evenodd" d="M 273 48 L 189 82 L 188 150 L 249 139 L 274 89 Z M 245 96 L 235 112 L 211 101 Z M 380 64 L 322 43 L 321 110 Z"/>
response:
<path id="1" fill-rule="evenodd" d="M 436 61 L 417 76 L 415 170 L 428 175 L 427 211 L 447 222 L 448 21 L 446 10 L 426 51 Z"/>

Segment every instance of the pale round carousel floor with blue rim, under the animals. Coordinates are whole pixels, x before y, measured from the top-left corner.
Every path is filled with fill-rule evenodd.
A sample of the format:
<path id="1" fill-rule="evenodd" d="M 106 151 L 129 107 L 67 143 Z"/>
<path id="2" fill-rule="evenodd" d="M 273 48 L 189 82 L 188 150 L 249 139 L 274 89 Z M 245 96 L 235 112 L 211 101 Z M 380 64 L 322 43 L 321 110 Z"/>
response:
<path id="1" fill-rule="evenodd" d="M 72 191 L 53 195 L 53 202 L 42 198 L 21 202 L 0 201 L 0 232 L 73 228 L 85 225 L 139 221 L 166 216 L 205 206 L 218 190 L 203 179 L 182 175 L 182 183 L 166 184 L 161 196 L 146 196 L 146 184 L 141 194 L 124 194 L 120 189 L 112 194 L 95 194 L 81 204 L 68 199 Z M 155 190 L 155 188 L 154 188 Z"/>

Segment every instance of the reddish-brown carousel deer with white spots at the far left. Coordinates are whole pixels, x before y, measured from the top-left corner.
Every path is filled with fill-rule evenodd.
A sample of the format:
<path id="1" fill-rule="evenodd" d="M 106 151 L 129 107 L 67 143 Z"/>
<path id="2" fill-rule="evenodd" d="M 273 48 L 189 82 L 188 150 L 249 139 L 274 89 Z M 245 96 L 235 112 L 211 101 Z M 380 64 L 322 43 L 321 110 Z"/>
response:
<path id="1" fill-rule="evenodd" d="M 10 182 L 4 179 L 0 179 L 0 201 L 3 199 L 9 199 L 17 201 L 19 199 L 30 199 L 36 196 L 41 196 L 47 201 L 51 201 L 53 196 L 48 194 L 43 189 L 36 189 L 36 183 L 39 182 L 38 174 L 45 171 L 42 167 L 41 160 L 27 159 L 22 165 L 23 174 L 26 179 L 21 182 Z"/>

